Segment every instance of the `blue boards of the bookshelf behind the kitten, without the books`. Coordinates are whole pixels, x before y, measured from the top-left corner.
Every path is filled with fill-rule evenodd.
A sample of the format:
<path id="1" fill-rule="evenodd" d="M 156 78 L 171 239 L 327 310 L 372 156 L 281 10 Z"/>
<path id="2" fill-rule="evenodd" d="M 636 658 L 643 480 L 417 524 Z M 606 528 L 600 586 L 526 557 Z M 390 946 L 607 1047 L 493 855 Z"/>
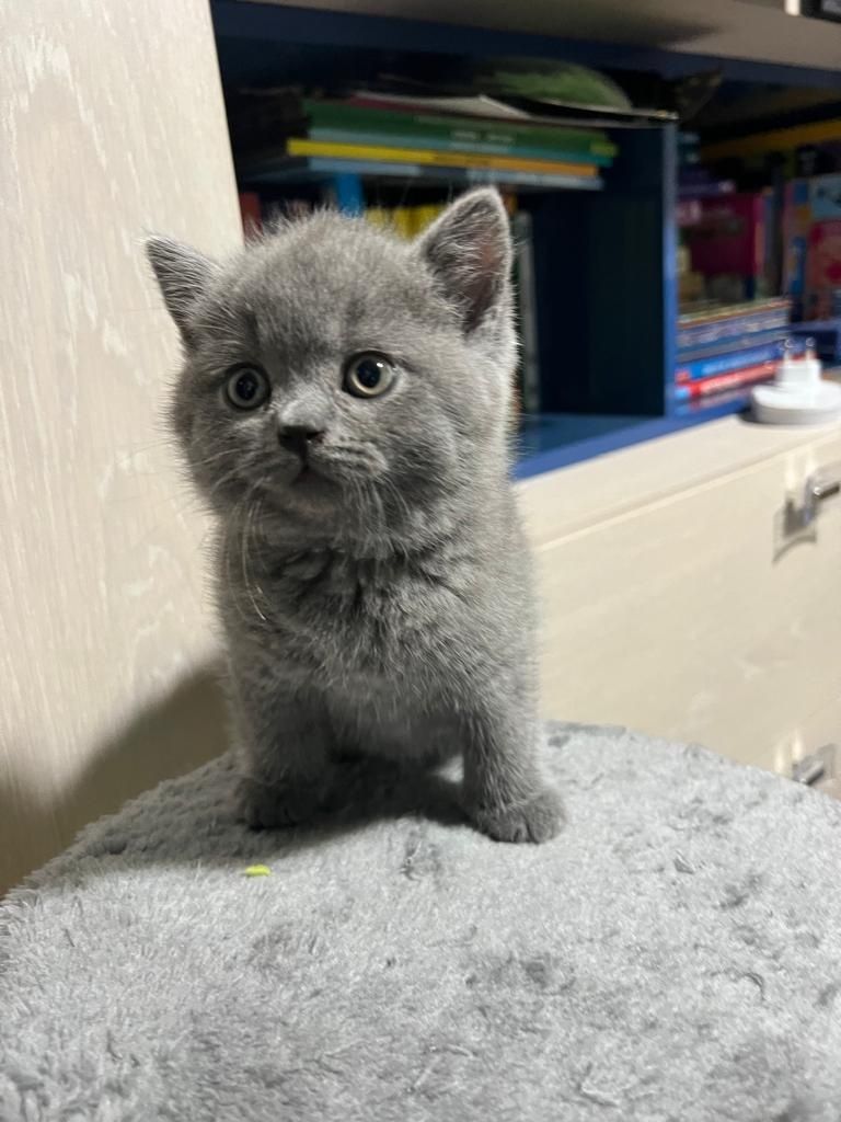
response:
<path id="1" fill-rule="evenodd" d="M 213 0 L 223 83 L 316 82 L 334 67 L 360 82 L 400 53 L 465 57 L 554 57 L 592 66 L 655 72 L 664 80 L 718 66 L 729 80 L 800 82 L 831 89 L 838 75 L 766 62 L 711 59 L 609 43 L 449 26 L 278 4 Z M 840 94 L 841 95 L 841 94 Z M 677 129 L 611 131 L 618 156 L 589 181 L 551 185 L 509 173 L 532 220 L 542 412 L 524 420 L 520 478 L 564 467 L 743 410 L 747 393 L 678 402 L 672 393 L 677 323 Z M 235 137 L 234 148 L 235 148 Z M 486 180 L 493 180 L 489 175 Z M 409 171 L 386 159 L 302 156 L 296 166 L 240 163 L 243 188 L 330 190 L 359 211 L 372 185 L 387 195 L 414 188 L 458 193 L 478 176 L 458 167 Z"/>

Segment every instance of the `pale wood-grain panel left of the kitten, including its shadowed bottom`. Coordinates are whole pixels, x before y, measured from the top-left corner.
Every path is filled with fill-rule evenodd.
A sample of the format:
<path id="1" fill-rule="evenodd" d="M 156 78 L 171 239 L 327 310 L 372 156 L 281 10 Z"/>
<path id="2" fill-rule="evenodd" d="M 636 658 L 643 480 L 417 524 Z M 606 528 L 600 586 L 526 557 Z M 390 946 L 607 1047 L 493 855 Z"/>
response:
<path id="1" fill-rule="evenodd" d="M 222 745 L 140 239 L 240 237 L 206 0 L 0 3 L 0 892 Z"/>

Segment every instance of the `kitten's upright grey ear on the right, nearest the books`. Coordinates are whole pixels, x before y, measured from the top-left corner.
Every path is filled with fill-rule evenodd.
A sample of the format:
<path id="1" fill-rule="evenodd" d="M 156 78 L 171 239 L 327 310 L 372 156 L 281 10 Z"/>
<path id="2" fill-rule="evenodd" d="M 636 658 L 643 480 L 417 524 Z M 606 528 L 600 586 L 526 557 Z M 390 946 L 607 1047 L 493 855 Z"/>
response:
<path id="1" fill-rule="evenodd" d="M 506 294 L 511 236 L 499 192 L 470 191 L 420 236 L 417 248 L 470 332 Z"/>

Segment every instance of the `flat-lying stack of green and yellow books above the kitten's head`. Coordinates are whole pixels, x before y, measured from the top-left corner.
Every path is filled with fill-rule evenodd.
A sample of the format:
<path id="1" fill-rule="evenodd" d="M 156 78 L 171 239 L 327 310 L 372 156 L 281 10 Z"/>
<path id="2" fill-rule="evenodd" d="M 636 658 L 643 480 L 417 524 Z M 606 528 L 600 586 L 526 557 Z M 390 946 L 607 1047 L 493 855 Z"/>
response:
<path id="1" fill-rule="evenodd" d="M 359 93 L 303 99 L 241 162 L 251 184 L 317 175 L 412 177 L 455 184 L 595 190 L 617 149 L 599 128 L 536 119 L 491 99 Z M 470 114 L 468 114 L 470 110 Z M 495 116 L 499 114 L 499 116 Z"/>

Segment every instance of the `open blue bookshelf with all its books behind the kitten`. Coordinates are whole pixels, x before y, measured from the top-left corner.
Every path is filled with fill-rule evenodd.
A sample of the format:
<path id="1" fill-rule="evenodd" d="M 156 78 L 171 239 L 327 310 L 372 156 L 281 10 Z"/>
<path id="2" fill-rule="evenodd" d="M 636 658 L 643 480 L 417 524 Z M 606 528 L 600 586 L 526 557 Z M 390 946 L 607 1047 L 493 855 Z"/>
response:
<path id="1" fill-rule="evenodd" d="M 828 159 L 834 171 L 835 137 L 841 173 L 841 28 L 740 0 L 621 12 L 604 0 L 433 3 L 423 20 L 380 0 L 211 10 L 247 226 L 327 201 L 413 237 L 465 187 L 500 187 L 520 247 L 520 475 L 742 412 L 789 330 L 803 347 L 814 329 L 822 357 L 841 355 L 841 283 L 835 321 L 829 297 L 797 291 L 811 227 L 800 249 L 792 236 L 795 203 L 803 210 L 792 193 L 808 195 Z M 553 108 L 533 92 L 542 74 L 557 81 L 553 65 L 591 68 L 619 100 Z M 499 94 L 506 71 L 525 83 L 518 95 Z M 454 110 L 435 101 L 455 94 L 501 96 L 511 114 L 480 119 L 461 165 L 456 125 L 470 121 L 451 117 L 449 132 Z M 519 126 L 566 129 L 573 150 L 518 136 L 524 107 Z M 598 130 L 608 155 L 593 148 L 570 174 L 576 129 Z M 378 158 L 361 158 L 371 150 Z M 493 167 L 500 158 L 523 167 Z M 554 160 L 555 174 L 525 169 L 535 159 Z M 838 197 L 841 214 L 841 178 Z M 841 232 L 838 256 L 841 270 Z M 769 297 L 785 297 L 785 311 L 763 321 Z M 701 324 L 694 349 L 686 313 Z"/>

